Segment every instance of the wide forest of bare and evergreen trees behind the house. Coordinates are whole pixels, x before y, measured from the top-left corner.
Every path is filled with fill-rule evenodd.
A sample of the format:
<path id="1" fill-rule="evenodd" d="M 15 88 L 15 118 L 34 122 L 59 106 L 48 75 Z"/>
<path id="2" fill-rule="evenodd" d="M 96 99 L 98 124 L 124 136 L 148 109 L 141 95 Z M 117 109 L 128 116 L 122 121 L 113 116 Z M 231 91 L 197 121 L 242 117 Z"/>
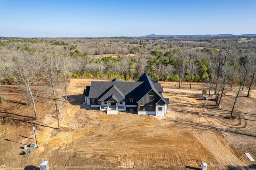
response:
<path id="1" fill-rule="evenodd" d="M 181 38 L 0 38 L 0 83 L 19 83 L 34 104 L 33 85 L 50 87 L 70 78 L 126 81 L 148 73 L 153 79 L 208 83 L 222 97 L 225 85 L 255 84 L 256 40 L 246 37 Z M 67 93 L 66 93 L 67 100 Z M 216 101 L 216 106 L 221 100 Z M 233 108 L 234 109 L 234 108 Z M 36 107 L 34 104 L 35 117 Z M 56 105 L 56 111 L 58 111 Z M 232 115 L 232 114 L 231 114 Z"/>

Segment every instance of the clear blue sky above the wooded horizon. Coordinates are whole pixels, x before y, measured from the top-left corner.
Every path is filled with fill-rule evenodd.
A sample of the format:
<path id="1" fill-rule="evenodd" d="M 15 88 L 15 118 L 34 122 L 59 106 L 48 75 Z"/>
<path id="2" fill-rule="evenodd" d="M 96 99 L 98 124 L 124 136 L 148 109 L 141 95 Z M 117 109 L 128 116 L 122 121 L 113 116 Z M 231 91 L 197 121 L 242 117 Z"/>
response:
<path id="1" fill-rule="evenodd" d="M 0 0 L 0 36 L 256 34 L 256 0 Z"/>

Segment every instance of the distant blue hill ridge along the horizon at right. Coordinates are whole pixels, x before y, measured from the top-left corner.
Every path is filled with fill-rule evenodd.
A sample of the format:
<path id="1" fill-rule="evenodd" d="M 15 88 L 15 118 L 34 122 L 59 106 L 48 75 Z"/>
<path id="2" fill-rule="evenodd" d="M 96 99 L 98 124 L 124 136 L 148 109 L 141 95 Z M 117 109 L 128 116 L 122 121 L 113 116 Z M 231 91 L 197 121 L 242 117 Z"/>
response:
<path id="1" fill-rule="evenodd" d="M 241 35 L 234 35 L 234 34 L 205 34 L 205 35 L 156 35 L 156 34 L 150 34 L 147 36 L 142 36 L 142 37 L 173 37 L 173 38 L 178 38 L 178 37 L 224 37 L 224 36 L 236 36 L 236 37 L 254 37 L 256 34 L 241 34 Z"/>

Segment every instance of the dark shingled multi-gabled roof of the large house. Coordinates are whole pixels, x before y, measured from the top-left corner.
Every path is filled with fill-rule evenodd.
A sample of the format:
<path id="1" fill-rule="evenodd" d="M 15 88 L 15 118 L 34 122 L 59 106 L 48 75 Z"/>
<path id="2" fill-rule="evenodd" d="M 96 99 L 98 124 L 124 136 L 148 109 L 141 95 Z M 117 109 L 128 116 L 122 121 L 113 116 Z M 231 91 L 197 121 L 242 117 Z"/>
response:
<path id="1" fill-rule="evenodd" d="M 118 78 L 115 78 L 110 82 L 92 81 L 88 97 L 90 99 L 98 99 L 98 101 L 108 101 L 111 97 L 112 99 L 115 98 L 114 100 L 127 101 L 128 98 L 136 97 L 136 102 L 138 102 L 151 89 L 162 99 L 162 101 L 164 101 L 164 103 L 168 104 L 167 100 L 160 94 L 163 92 L 161 84 L 158 83 L 156 79 L 151 79 L 147 73 L 141 75 L 135 82 L 120 81 Z"/>

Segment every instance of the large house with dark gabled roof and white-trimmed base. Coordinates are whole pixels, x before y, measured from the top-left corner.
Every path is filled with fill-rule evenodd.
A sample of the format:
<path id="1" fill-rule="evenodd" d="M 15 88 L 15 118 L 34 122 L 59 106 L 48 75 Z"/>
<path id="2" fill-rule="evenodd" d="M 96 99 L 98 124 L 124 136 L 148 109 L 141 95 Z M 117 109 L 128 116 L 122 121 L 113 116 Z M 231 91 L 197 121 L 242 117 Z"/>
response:
<path id="1" fill-rule="evenodd" d="M 134 107 L 138 115 L 164 116 L 169 99 L 162 96 L 163 87 L 157 79 L 144 73 L 135 81 L 92 81 L 84 90 L 85 103 L 107 114 L 117 114 Z"/>

